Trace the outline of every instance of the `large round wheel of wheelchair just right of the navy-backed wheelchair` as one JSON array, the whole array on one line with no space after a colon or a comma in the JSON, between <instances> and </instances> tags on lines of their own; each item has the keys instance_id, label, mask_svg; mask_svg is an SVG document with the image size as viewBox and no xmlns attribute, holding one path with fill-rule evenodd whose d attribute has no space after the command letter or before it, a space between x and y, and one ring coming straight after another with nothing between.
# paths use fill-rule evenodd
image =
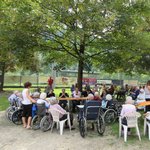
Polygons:
<instances>
[{"instance_id":1,"label":"large round wheel of wheelchair just right of the navy-backed wheelchair","mask_svg":"<svg viewBox=\"0 0 150 150\"><path fill-rule=\"evenodd\" d=\"M106 124L112 124L116 121L117 114L113 109L108 109L104 113L104 121Z\"/></svg>"}]
</instances>

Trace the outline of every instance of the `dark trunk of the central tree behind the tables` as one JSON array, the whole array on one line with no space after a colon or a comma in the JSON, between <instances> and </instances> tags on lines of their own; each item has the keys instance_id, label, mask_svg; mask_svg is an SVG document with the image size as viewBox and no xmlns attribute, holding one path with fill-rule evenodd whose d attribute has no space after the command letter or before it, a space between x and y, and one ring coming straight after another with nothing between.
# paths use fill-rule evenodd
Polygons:
<instances>
[{"instance_id":1,"label":"dark trunk of the central tree behind the tables","mask_svg":"<svg viewBox=\"0 0 150 150\"><path fill-rule=\"evenodd\" d=\"M83 60L79 60L78 64L78 88L82 91L82 78L83 78Z\"/></svg>"}]
</instances>

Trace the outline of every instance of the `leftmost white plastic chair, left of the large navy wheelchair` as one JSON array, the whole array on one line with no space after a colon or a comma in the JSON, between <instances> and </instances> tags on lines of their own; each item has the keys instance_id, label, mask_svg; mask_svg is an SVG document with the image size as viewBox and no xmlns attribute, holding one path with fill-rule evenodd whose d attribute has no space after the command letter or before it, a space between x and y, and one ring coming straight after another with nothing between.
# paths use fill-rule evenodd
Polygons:
<instances>
[{"instance_id":1,"label":"leftmost white plastic chair, left of the large navy wheelchair","mask_svg":"<svg viewBox=\"0 0 150 150\"><path fill-rule=\"evenodd\" d=\"M53 123L52 123L52 127L51 127L51 132L53 131L54 124L57 123L57 129L58 129L58 125L59 125L60 135L62 135L63 134L64 123L66 121L68 121L69 129L71 131L71 124L70 124L70 115L69 115L69 112L67 113L67 119L64 119L62 121L59 120L59 116L61 114L59 110L50 109L50 112L51 112L52 117L53 117Z\"/></svg>"}]
</instances>

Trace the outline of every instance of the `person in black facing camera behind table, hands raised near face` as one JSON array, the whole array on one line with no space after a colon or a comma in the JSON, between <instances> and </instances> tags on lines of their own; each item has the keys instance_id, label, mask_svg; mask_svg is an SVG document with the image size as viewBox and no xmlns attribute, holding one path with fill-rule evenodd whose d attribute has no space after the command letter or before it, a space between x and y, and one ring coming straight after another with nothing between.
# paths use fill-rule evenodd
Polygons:
<instances>
[{"instance_id":1,"label":"person in black facing camera behind table, hands raised near face","mask_svg":"<svg viewBox=\"0 0 150 150\"><path fill-rule=\"evenodd\" d=\"M65 89L63 88L62 89L62 93L59 94L59 97L60 98L66 98L66 97L69 97L68 93L65 92ZM59 101L59 105L63 108L63 109L67 109L67 103L68 101L67 100L60 100Z\"/></svg>"}]
</instances>

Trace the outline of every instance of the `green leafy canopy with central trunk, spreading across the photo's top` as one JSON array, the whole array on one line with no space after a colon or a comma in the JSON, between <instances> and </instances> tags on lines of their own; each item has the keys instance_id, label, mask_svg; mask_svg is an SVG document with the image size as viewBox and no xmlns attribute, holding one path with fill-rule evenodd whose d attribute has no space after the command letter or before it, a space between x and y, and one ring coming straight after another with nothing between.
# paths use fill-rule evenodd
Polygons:
<instances>
[{"instance_id":1,"label":"green leafy canopy with central trunk, spreading across the photo's top","mask_svg":"<svg viewBox=\"0 0 150 150\"><path fill-rule=\"evenodd\" d=\"M31 69L39 51L48 62L78 63L80 89L87 63L107 72L150 69L150 3L146 0L0 3L1 61L8 60L9 54L13 62Z\"/></svg>"}]
</instances>

